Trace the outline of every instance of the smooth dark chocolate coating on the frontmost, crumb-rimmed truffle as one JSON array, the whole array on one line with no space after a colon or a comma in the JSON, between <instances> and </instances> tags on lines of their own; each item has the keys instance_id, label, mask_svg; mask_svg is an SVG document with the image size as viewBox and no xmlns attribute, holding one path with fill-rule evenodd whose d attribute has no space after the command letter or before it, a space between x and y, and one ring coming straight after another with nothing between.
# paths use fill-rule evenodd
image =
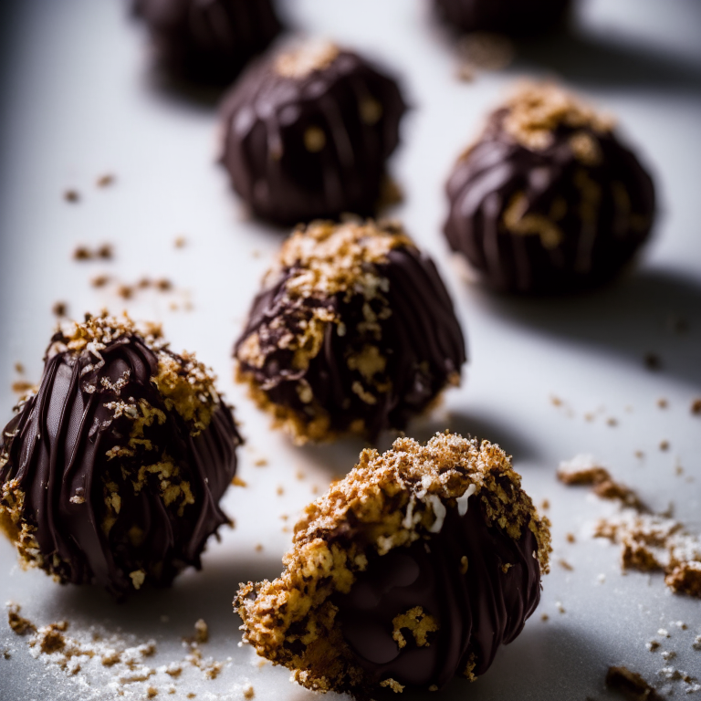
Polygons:
<instances>
[{"instance_id":1,"label":"smooth dark chocolate coating on the frontmost, crumb-rimmed truffle","mask_svg":"<svg viewBox=\"0 0 701 701\"><path fill-rule=\"evenodd\" d=\"M518 636L538 606L537 549L528 528L514 540L487 526L475 501L462 517L449 507L443 528L429 539L375 555L351 592L335 600L343 637L369 683L391 677L401 685L441 688L468 665L471 675L487 672L499 646ZM392 620L415 606L440 627L430 644L418 646L407 634L400 648Z\"/></svg>"}]
</instances>

